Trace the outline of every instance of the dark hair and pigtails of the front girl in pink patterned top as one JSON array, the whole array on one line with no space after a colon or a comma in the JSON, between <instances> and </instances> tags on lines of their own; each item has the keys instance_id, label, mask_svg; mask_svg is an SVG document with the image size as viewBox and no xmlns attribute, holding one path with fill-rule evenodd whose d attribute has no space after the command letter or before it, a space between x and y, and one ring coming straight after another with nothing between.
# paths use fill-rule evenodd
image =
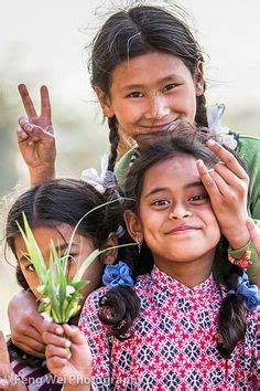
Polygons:
<instances>
[{"instance_id":1,"label":"dark hair and pigtails of the front girl in pink patterned top","mask_svg":"<svg viewBox=\"0 0 260 391\"><path fill-rule=\"evenodd\" d=\"M202 133L201 129L193 128L188 124L180 124L180 126L181 131L162 133L161 136L158 137L158 144L151 142L148 149L141 154L129 170L123 186L124 194L129 199L126 209L131 210L137 215L139 215L139 203L144 176L149 168L183 154L195 157L196 159L202 159L207 168L213 168L218 162L218 158L206 146L206 141L209 138L206 129L205 133ZM213 138L213 135L210 138ZM234 152L234 155L236 154ZM242 160L237 155L236 157L245 167ZM227 290L236 290L238 277L242 274L242 271L228 261L227 250L228 242L225 237L221 237L216 249L213 273L215 279L224 284ZM131 266L134 277L151 272L153 257L145 243L142 245L140 255L138 256L138 254L136 254L136 261L133 257ZM109 313L106 311L105 323L111 326L112 335L119 339L123 338L123 332L126 334L129 330L134 317L139 313L139 304L136 307L126 306L128 298L132 298L134 295L132 288L128 287L122 289L119 287L117 289L110 289L105 295L105 298L100 300L100 319L104 321L104 308L107 310L107 307L110 306L110 308L112 308L112 316L108 318L107 314ZM126 314L129 308L130 311ZM220 355L228 358L237 342L243 339L245 334L246 310L242 298L239 295L226 295L221 302L218 314L218 335L220 338L217 348Z\"/></svg>"}]
</instances>

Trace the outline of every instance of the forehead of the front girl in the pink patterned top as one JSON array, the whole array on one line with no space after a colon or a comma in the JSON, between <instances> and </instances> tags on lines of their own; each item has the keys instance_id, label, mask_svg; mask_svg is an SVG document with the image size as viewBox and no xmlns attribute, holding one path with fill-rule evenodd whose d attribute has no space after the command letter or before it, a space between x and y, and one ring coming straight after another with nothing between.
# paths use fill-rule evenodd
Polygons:
<instances>
[{"instance_id":1,"label":"forehead of the front girl in the pink patterned top","mask_svg":"<svg viewBox=\"0 0 260 391\"><path fill-rule=\"evenodd\" d=\"M143 178L142 193L149 192L152 188L180 189L199 180L196 158L180 154L148 169Z\"/></svg>"}]
</instances>

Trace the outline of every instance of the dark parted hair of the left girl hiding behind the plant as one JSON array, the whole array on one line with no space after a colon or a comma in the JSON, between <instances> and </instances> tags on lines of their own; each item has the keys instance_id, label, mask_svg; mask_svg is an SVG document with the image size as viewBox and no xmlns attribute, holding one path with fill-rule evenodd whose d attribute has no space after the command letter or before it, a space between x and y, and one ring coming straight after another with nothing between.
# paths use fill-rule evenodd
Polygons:
<instances>
[{"instance_id":1,"label":"dark parted hair of the left girl hiding behind the plant","mask_svg":"<svg viewBox=\"0 0 260 391\"><path fill-rule=\"evenodd\" d=\"M21 194L10 209L6 225L7 244L17 257L15 237L21 235L18 223L24 229L23 212L31 229L51 226L55 230L61 223L75 228L88 211L107 201L106 196L82 180L55 179L37 184ZM106 244L109 234L117 231L121 220L122 211L119 202L116 202L97 209L83 219L77 232L89 239L95 247L100 249ZM29 289L19 263L17 279L22 288ZM9 351L20 358L24 356L24 352L11 342L9 342ZM37 367L41 362L41 359L26 357L26 363L31 367Z\"/></svg>"}]
</instances>

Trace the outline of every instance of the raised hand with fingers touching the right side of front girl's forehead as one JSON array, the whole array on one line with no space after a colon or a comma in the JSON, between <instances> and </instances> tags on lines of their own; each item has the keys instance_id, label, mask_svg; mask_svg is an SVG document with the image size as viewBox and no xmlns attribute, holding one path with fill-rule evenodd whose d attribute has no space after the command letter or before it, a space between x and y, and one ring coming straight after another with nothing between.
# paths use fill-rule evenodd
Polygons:
<instances>
[{"instance_id":1,"label":"raised hand with fingers touching the right side of front girl's forehead","mask_svg":"<svg viewBox=\"0 0 260 391\"><path fill-rule=\"evenodd\" d=\"M198 160L197 169L221 233L231 247L238 250L250 240L246 225L249 177L231 152L214 140L207 145L220 161L214 170L207 170L204 162Z\"/></svg>"}]
</instances>

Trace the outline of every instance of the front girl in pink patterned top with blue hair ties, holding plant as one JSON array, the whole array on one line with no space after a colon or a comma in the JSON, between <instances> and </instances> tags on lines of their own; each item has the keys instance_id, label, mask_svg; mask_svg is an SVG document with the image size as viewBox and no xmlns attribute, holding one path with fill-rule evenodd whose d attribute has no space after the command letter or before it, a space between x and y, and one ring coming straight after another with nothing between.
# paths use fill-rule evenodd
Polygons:
<instances>
[{"instance_id":1,"label":"front girl in pink patterned top with blue hair ties, holding plant","mask_svg":"<svg viewBox=\"0 0 260 391\"><path fill-rule=\"evenodd\" d=\"M140 254L107 266L107 287L84 305L79 328L91 350L93 389L253 387L257 286L227 258L227 241L203 184L221 162L195 138L161 140L127 177L124 220ZM75 335L80 338L79 330ZM43 338L50 369L78 374L84 351L68 358L61 335Z\"/></svg>"}]
</instances>

